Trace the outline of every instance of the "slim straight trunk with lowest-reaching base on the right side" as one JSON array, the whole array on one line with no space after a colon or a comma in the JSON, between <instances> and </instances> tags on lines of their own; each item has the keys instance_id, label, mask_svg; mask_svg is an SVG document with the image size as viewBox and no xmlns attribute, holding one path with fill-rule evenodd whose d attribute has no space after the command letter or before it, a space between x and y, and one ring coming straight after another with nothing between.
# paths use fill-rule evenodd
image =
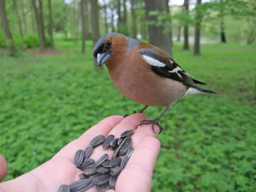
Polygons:
<instances>
[{"instance_id":1,"label":"slim straight trunk with lowest-reaching base on the right side","mask_svg":"<svg viewBox=\"0 0 256 192\"><path fill-rule=\"evenodd\" d=\"M196 1L196 6L200 5L202 3L202 0ZM201 25L201 19L202 14L200 13L200 10L196 10L195 15L195 44L194 44L194 55L200 55L200 25Z\"/></svg>"}]
</instances>

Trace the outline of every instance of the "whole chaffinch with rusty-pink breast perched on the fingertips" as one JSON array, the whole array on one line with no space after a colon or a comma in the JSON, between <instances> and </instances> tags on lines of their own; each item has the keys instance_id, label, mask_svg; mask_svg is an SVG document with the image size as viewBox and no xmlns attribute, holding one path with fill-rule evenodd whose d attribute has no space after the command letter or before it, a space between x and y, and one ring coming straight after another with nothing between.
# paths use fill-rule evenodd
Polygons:
<instances>
[{"instance_id":1,"label":"whole chaffinch with rusty-pink breast perched on the fingertips","mask_svg":"<svg viewBox=\"0 0 256 192\"><path fill-rule=\"evenodd\" d=\"M162 49L120 33L101 36L93 47L93 56L99 66L106 64L109 76L122 95L145 105L139 113L148 106L167 106L154 120L143 120L139 124L152 124L154 132L154 125L160 127L160 132L163 130L159 120L182 97L218 94L198 88L196 84L205 83L193 79Z\"/></svg>"}]
</instances>

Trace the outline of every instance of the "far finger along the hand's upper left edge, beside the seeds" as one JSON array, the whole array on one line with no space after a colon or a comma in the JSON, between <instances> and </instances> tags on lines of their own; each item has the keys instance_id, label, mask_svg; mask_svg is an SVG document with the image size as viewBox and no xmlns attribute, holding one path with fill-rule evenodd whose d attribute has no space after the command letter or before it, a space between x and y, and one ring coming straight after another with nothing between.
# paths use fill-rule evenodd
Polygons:
<instances>
[{"instance_id":1,"label":"far finger along the hand's upper left edge, beside the seeds","mask_svg":"<svg viewBox=\"0 0 256 192\"><path fill-rule=\"evenodd\" d=\"M98 124L94 125L82 136L77 138L77 140L68 143L68 145L62 148L60 152L56 154L56 156L52 157L52 159L67 158L69 161L73 162L77 150L85 150L85 148L89 146L90 141L92 141L92 139L99 134L107 136L109 131L111 131L115 125L120 123L122 119L122 116L109 116L108 118L101 120Z\"/></svg>"}]
</instances>

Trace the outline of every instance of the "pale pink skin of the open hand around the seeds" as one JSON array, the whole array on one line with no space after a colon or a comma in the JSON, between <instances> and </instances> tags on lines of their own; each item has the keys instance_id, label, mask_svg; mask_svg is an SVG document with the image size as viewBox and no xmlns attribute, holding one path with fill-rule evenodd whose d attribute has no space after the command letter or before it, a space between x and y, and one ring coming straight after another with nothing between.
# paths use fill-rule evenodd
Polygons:
<instances>
[{"instance_id":1,"label":"pale pink skin of the open hand around the seeds","mask_svg":"<svg viewBox=\"0 0 256 192\"><path fill-rule=\"evenodd\" d=\"M114 134L115 137L128 129L136 129L141 120L147 116L137 113L127 116L109 116L94 125L77 140L68 143L51 160L38 166L29 173L17 179L9 180L0 184L1 192L40 192L58 191L61 184L70 184L79 180L78 175L82 173L74 165L74 155L79 149L85 149L90 141L97 135ZM127 163L127 166L120 173L116 182L116 192L149 192L151 189L152 172L156 164L157 155L160 150L160 142L156 139L157 134L152 131L151 125L138 127L132 135L132 147L134 152ZM95 147L90 158L99 159L102 154L107 153L111 157L113 150L103 150L102 145ZM7 172L7 164L3 156L0 156L0 179L3 179ZM96 192L94 187L86 192ZM108 190L114 192L114 190Z\"/></svg>"}]
</instances>

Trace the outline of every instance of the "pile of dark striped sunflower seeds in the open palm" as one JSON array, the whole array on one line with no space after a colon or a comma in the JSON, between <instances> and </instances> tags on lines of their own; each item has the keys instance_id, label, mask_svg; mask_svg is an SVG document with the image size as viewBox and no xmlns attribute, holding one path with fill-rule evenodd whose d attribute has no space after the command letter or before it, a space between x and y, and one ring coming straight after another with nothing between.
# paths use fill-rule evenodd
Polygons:
<instances>
[{"instance_id":1,"label":"pile of dark striped sunflower seeds in the open palm","mask_svg":"<svg viewBox=\"0 0 256 192\"><path fill-rule=\"evenodd\" d=\"M134 150L131 147L133 132L133 130L127 130L120 135L120 138L115 138L113 134L106 138L99 135L93 138L86 150L77 150L74 164L83 171L79 175L81 180L77 180L69 186L61 185L59 192L83 192L93 185L98 192L104 192L108 189L115 190L118 175L124 170ZM102 143L102 148L110 147L114 150L111 159L109 159L108 154L104 154L97 161L88 158L92 154L93 147Z\"/></svg>"}]
</instances>

